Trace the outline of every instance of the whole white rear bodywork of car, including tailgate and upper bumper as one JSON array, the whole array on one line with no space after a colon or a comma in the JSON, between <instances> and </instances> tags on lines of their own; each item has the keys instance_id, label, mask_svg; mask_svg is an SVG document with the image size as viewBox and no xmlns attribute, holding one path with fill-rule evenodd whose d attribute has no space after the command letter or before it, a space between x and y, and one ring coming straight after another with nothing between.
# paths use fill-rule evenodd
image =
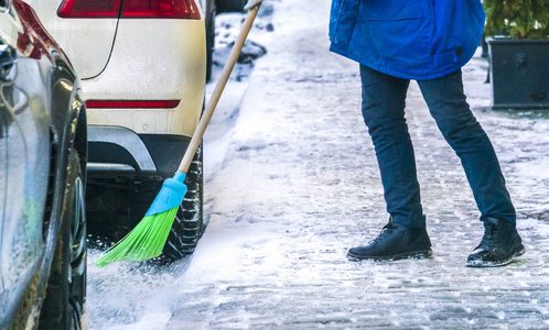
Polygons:
<instances>
[{"instance_id":1,"label":"whole white rear bodywork of car, including tailgate and upper bumper","mask_svg":"<svg viewBox=\"0 0 549 330\"><path fill-rule=\"evenodd\" d=\"M28 2L73 62L87 100L181 100L175 109L88 109L89 124L192 136L206 79L202 11L201 20L62 19L61 0Z\"/></svg>"}]
</instances>

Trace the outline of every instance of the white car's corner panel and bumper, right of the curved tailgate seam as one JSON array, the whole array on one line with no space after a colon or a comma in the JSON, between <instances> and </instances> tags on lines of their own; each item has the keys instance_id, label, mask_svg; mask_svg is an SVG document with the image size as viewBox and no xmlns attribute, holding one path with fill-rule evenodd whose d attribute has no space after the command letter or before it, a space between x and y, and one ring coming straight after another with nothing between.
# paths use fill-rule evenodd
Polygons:
<instances>
[{"instance_id":1,"label":"white car's corner panel and bumper, right of the curved tailgate seam","mask_svg":"<svg viewBox=\"0 0 549 330\"><path fill-rule=\"evenodd\" d=\"M191 136L204 101L205 54L202 20L120 20L105 72L82 81L85 97L181 103L169 110L88 109L88 122L120 125L137 133Z\"/></svg>"}]
</instances>

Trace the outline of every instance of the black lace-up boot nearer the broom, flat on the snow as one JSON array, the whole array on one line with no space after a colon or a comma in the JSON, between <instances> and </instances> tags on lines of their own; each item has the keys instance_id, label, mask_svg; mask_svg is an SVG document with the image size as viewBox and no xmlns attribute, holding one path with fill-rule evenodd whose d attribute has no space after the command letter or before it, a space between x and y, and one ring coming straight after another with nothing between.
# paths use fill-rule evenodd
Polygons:
<instances>
[{"instance_id":1,"label":"black lace-up boot nearer the broom, flat on the snow","mask_svg":"<svg viewBox=\"0 0 549 330\"><path fill-rule=\"evenodd\" d=\"M353 248L347 253L347 257L353 261L399 260L431 255L431 240L424 228L398 224L392 222L392 218L368 245Z\"/></svg>"}]
</instances>

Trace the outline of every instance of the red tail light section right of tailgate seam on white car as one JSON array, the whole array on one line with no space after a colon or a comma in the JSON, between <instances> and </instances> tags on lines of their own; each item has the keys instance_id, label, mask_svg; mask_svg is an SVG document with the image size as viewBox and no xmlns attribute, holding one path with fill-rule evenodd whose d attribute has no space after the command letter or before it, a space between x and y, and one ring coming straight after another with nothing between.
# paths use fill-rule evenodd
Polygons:
<instances>
[{"instance_id":1,"label":"red tail light section right of tailgate seam on white car","mask_svg":"<svg viewBox=\"0 0 549 330\"><path fill-rule=\"evenodd\" d=\"M201 13L193 0L125 0L122 18L200 20Z\"/></svg>"}]
</instances>

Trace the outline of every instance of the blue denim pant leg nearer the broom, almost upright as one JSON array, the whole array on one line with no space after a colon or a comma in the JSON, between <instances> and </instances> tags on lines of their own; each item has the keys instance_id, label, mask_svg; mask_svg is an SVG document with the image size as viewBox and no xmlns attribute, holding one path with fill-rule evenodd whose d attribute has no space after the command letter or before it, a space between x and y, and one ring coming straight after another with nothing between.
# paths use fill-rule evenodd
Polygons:
<instances>
[{"instance_id":1,"label":"blue denim pant leg nearer the broom, almost upright","mask_svg":"<svg viewBox=\"0 0 549 330\"><path fill-rule=\"evenodd\" d=\"M376 150L387 211L395 222L426 227L416 158L405 119L410 80L360 65L363 117Z\"/></svg>"}]
</instances>

